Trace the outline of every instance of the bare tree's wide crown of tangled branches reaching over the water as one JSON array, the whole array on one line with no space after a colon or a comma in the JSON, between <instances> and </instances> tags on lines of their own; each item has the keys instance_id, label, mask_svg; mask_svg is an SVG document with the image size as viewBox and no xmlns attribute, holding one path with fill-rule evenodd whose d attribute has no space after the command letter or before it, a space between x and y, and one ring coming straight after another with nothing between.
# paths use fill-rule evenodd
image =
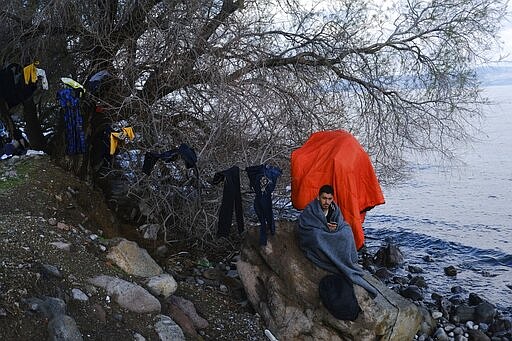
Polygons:
<instances>
[{"instance_id":1,"label":"bare tree's wide crown of tangled branches reaching over the water","mask_svg":"<svg viewBox=\"0 0 512 341\"><path fill-rule=\"evenodd\" d=\"M485 103L474 67L498 44L506 8L505 0L7 3L4 61L39 59L53 85L108 70L115 81L89 101L110 122L133 125L130 148L197 150L202 182L175 165L146 176L132 163L130 187L146 217L196 235L211 233L218 208L219 189L205 179L231 165L287 170L290 152L317 130L352 132L383 181L401 178L405 152L451 156Z\"/></svg>"}]
</instances>

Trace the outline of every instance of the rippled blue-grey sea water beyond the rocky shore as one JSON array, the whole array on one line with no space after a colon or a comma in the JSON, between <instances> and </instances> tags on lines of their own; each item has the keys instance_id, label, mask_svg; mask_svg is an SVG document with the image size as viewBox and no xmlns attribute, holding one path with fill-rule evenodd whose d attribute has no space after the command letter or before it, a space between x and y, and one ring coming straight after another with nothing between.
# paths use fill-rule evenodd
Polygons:
<instances>
[{"instance_id":1,"label":"rippled blue-grey sea water beyond the rocky shore","mask_svg":"<svg viewBox=\"0 0 512 341\"><path fill-rule=\"evenodd\" d=\"M364 226L370 250L390 238L425 270L429 292L459 285L512 312L512 86L485 94L495 104L477 142L458 147L460 162L417 160L410 180L383 188L386 204ZM449 265L456 277L444 274Z\"/></svg>"}]
</instances>

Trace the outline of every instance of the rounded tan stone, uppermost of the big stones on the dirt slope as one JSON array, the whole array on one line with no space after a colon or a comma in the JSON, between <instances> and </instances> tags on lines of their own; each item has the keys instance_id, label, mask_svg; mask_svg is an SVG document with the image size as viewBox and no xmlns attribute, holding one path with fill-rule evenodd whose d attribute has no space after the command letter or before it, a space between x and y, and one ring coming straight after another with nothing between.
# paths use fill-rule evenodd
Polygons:
<instances>
[{"instance_id":1,"label":"rounded tan stone, uppermost of the big stones on the dirt slope","mask_svg":"<svg viewBox=\"0 0 512 341\"><path fill-rule=\"evenodd\" d=\"M130 275L151 277L163 272L146 250L140 248L137 243L126 239L121 239L119 244L111 248L107 259L112 260Z\"/></svg>"}]
</instances>

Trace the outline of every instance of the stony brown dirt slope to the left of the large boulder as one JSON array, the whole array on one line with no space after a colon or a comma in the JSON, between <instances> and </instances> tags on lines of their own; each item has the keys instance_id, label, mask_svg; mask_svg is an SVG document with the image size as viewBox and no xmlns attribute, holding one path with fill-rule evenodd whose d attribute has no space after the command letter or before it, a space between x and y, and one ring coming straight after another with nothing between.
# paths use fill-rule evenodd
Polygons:
<instances>
[{"instance_id":1,"label":"stony brown dirt slope to the left of the large boulder","mask_svg":"<svg viewBox=\"0 0 512 341\"><path fill-rule=\"evenodd\" d=\"M159 340L160 314L180 319L161 295L160 314L136 313L91 285L106 275L144 287L144 278L106 258L118 241L110 237L120 233L112 221L101 194L47 156L0 161L0 340L62 340L62 330L84 340ZM197 333L182 328L186 339L266 339L239 281L228 276L236 253L156 246L148 249L178 281L172 296L208 321Z\"/></svg>"}]
</instances>

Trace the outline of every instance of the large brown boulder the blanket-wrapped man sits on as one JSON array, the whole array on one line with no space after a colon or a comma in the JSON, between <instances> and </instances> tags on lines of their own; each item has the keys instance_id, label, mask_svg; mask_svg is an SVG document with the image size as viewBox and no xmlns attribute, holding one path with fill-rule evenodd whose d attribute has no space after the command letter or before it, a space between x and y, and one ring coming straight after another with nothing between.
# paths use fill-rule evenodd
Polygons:
<instances>
[{"instance_id":1,"label":"large brown boulder the blanket-wrapped man sits on","mask_svg":"<svg viewBox=\"0 0 512 341\"><path fill-rule=\"evenodd\" d=\"M240 279L253 307L279 340L412 340L421 322L418 307L370 274L379 291L372 299L355 285L362 313L355 321L333 317L321 304L320 279L327 274L302 253L294 222L279 222L266 247L258 229L249 230L237 262Z\"/></svg>"}]
</instances>

